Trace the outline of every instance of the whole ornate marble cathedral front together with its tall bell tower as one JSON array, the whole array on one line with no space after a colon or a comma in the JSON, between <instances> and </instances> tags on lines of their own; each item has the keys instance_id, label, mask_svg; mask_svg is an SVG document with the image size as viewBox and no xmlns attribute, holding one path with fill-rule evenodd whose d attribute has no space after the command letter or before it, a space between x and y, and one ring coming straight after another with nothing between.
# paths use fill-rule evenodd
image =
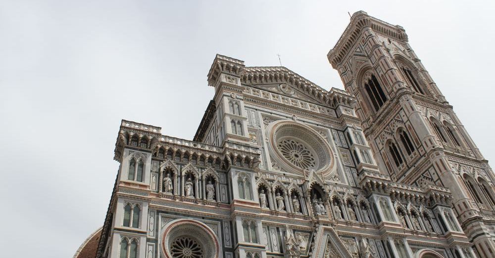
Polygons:
<instances>
[{"instance_id":1,"label":"whole ornate marble cathedral front together with its tall bell tower","mask_svg":"<svg viewBox=\"0 0 495 258\"><path fill-rule=\"evenodd\" d=\"M192 141L122 120L96 257L495 257L494 173L404 29L356 12L328 60L345 91L217 55Z\"/></svg>"}]
</instances>

